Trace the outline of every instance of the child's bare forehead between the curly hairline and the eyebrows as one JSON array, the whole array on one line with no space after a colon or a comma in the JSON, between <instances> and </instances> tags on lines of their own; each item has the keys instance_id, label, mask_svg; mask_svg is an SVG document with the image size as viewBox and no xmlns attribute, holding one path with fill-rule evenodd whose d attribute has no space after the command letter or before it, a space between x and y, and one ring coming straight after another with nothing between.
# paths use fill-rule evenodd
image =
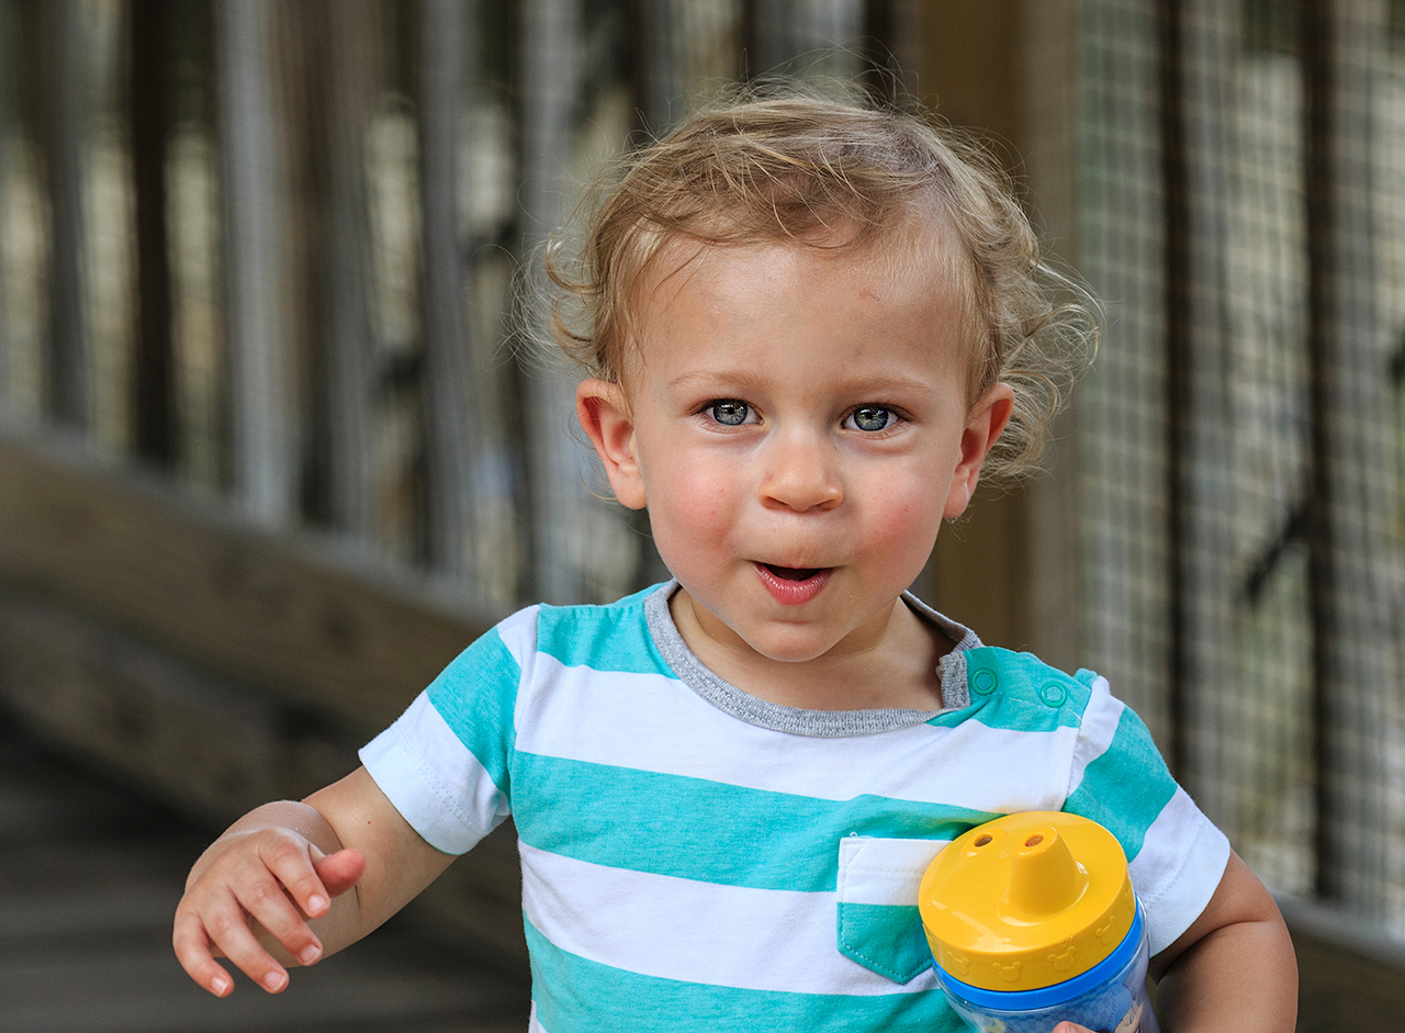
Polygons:
<instances>
[{"instance_id":1,"label":"child's bare forehead between the curly hairline and the eyebrows","mask_svg":"<svg viewBox=\"0 0 1405 1033\"><path fill-rule=\"evenodd\" d=\"M899 370L964 381L969 370L965 291L941 239L854 247L680 238L658 257L639 284L635 344L620 370L629 396L724 371L769 377L804 356L812 374L849 384Z\"/></svg>"}]
</instances>

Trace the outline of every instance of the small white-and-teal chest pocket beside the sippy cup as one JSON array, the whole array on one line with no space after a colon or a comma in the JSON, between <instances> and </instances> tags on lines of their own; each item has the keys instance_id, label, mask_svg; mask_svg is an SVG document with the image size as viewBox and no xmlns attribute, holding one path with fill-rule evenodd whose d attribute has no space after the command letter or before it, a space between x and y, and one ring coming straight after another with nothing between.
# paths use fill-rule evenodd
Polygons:
<instances>
[{"instance_id":1,"label":"small white-and-teal chest pocket beside the sippy cup","mask_svg":"<svg viewBox=\"0 0 1405 1033\"><path fill-rule=\"evenodd\" d=\"M946 839L839 840L839 951L864 968L906 984L932 967L917 914L917 885Z\"/></svg>"}]
</instances>

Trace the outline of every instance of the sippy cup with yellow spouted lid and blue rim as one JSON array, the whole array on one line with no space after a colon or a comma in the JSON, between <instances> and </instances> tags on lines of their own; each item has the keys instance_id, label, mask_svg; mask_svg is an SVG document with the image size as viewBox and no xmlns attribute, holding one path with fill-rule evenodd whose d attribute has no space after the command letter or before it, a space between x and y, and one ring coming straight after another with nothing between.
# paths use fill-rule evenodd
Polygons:
<instances>
[{"instance_id":1,"label":"sippy cup with yellow spouted lid and blue rim","mask_svg":"<svg viewBox=\"0 0 1405 1033\"><path fill-rule=\"evenodd\" d=\"M1159 1033L1146 1001L1148 940L1127 857L1073 814L978 825L922 877L936 975L978 1033Z\"/></svg>"}]
</instances>

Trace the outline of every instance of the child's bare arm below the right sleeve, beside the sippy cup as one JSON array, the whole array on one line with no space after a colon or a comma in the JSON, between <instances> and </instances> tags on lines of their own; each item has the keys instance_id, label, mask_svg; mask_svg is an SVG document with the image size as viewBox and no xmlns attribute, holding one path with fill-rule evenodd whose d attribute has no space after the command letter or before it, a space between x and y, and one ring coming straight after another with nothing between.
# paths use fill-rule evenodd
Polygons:
<instances>
[{"instance_id":1,"label":"child's bare arm below the right sleeve, beside the sippy cup","mask_svg":"<svg viewBox=\"0 0 1405 1033\"><path fill-rule=\"evenodd\" d=\"M1151 960L1151 977L1166 1033L1293 1033L1297 1025L1293 940L1279 905L1236 853L1200 918ZM1055 1033L1080 1029L1061 1023Z\"/></svg>"}]
</instances>

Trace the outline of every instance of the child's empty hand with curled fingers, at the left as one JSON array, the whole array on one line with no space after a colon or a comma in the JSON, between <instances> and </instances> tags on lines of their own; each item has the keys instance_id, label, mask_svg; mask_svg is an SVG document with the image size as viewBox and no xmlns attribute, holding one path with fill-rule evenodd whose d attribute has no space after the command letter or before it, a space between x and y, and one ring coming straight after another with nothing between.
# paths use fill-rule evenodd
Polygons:
<instances>
[{"instance_id":1,"label":"child's empty hand with curled fingers, at the left","mask_svg":"<svg viewBox=\"0 0 1405 1033\"><path fill-rule=\"evenodd\" d=\"M260 943L261 930L289 961L318 961L322 942L306 918L326 915L332 899L365 871L360 850L323 855L288 828L230 829L202 862L176 908L171 939L181 967L215 996L235 988L216 957L228 957L270 994L288 985L287 970Z\"/></svg>"}]
</instances>

